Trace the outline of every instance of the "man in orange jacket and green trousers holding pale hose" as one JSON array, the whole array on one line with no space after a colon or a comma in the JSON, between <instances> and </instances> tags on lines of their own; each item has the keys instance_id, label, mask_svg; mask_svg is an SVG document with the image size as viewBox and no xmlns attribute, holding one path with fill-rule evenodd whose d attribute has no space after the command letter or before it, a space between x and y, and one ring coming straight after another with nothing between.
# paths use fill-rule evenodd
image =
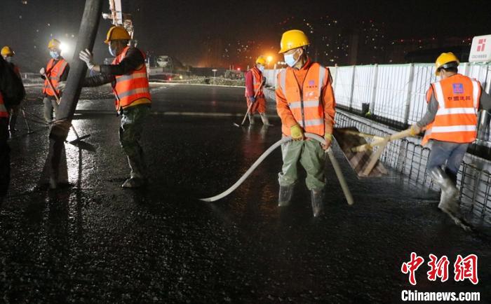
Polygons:
<instances>
[{"instance_id":1,"label":"man in orange jacket and green trousers holding pale hose","mask_svg":"<svg viewBox=\"0 0 491 304\"><path fill-rule=\"evenodd\" d=\"M325 151L332 142L335 98L329 69L311 61L307 46L309 39L302 31L293 29L281 37L279 53L285 57L288 67L278 74L276 109L283 136L291 136L293 141L281 147L283 168L278 174L278 206L290 204L300 163L307 171L312 211L314 216L319 216L323 213ZM304 132L324 137L326 144L305 140Z\"/></svg>"}]
</instances>

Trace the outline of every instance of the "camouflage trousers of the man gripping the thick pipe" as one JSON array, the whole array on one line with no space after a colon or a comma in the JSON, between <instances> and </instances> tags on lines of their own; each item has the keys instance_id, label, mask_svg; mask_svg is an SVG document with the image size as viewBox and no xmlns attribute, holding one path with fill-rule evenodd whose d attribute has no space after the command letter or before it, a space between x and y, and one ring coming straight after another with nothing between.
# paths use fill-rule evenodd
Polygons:
<instances>
[{"instance_id":1,"label":"camouflage trousers of the man gripping the thick pipe","mask_svg":"<svg viewBox=\"0 0 491 304\"><path fill-rule=\"evenodd\" d=\"M143 149L140 138L143 132L143 123L150 113L147 104L130 106L121 113L121 126L119 127L119 143L128 156L131 178L147 178L147 166L145 165Z\"/></svg>"}]
</instances>

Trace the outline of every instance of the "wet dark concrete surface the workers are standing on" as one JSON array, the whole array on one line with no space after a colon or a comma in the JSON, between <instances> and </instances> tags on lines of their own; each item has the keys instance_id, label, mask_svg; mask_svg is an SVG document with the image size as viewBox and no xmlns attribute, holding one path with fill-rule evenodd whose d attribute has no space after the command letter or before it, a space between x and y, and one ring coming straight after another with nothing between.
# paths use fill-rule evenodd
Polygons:
<instances>
[{"instance_id":1,"label":"wet dark concrete surface the workers are standing on","mask_svg":"<svg viewBox=\"0 0 491 304\"><path fill-rule=\"evenodd\" d=\"M234 127L245 111L242 88L158 85L152 93L145 189L120 188L128 166L112 101L97 99L107 98L103 91L84 92L79 104L74 126L97 150L66 145L72 187L34 188L46 128L11 140L13 180L0 207L0 302L394 303L404 289L480 291L481 302L490 301L489 228L465 233L438 212L438 193L396 174L356 179L339 149L355 205L347 205L328 165L322 219L311 218L303 180L292 206L276 207L279 150L229 197L197 200L234 184L280 138L279 121ZM39 100L26 106L41 113ZM401 272L412 251L425 258L417 286ZM448 256L447 282L426 278L429 254ZM477 285L452 279L457 254L478 255Z\"/></svg>"}]
</instances>

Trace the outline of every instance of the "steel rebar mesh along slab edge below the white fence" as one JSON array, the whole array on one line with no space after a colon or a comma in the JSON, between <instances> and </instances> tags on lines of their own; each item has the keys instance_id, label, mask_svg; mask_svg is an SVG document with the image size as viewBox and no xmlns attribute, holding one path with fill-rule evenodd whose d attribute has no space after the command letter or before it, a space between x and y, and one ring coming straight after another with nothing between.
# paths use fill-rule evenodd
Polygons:
<instances>
[{"instance_id":1,"label":"steel rebar mesh along slab edge below the white fence","mask_svg":"<svg viewBox=\"0 0 491 304\"><path fill-rule=\"evenodd\" d=\"M389 134L372 124L353 119L342 111L336 113L336 127L357 127L361 132L381 137ZM438 190L426 170L430 152L431 149L426 146L407 139L399 139L387 144L380 160L384 165L403 174L412 183ZM487 221L491 222L491 173L476 165L463 162L457 176L457 185L460 189L459 202L462 207L480 216L481 219L487 218Z\"/></svg>"}]
</instances>

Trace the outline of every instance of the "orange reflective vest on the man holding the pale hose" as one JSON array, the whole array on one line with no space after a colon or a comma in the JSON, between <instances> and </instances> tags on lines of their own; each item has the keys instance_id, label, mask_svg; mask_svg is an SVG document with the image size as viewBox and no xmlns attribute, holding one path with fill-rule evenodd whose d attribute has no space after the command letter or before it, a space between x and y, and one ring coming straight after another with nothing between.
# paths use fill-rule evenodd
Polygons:
<instances>
[{"instance_id":1,"label":"orange reflective vest on the man holding the pale hose","mask_svg":"<svg viewBox=\"0 0 491 304\"><path fill-rule=\"evenodd\" d=\"M303 83L298 83L292 68L283 69L278 74L278 85L285 96L290 111L297 123L310 132L324 136L324 105L322 90L327 85L329 70L316 62L307 71ZM282 125L283 134L290 136L290 127Z\"/></svg>"}]
</instances>

